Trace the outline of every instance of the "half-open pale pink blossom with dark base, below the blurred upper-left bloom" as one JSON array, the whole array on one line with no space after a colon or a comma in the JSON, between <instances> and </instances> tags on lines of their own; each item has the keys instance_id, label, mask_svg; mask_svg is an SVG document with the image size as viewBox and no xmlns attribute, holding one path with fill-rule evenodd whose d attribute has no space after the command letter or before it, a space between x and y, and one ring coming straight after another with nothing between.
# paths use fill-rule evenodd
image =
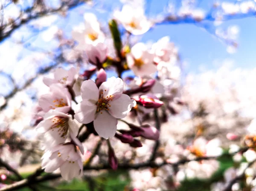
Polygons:
<instances>
[{"instance_id":1,"label":"half-open pale pink blossom with dark base, below the blurred upper-left bloom","mask_svg":"<svg viewBox=\"0 0 256 191\"><path fill-rule=\"evenodd\" d=\"M107 59L108 47L104 43L98 43L96 45L87 45L86 54L88 60L98 66Z\"/></svg>"}]
</instances>

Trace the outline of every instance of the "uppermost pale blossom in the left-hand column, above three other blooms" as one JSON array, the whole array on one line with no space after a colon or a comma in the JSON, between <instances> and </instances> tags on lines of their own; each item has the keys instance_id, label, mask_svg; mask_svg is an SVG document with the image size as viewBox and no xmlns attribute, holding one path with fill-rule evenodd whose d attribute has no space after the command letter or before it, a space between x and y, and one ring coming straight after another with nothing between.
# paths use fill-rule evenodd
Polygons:
<instances>
[{"instance_id":1,"label":"uppermost pale blossom in the left-hand column, above three other blooms","mask_svg":"<svg viewBox=\"0 0 256 191\"><path fill-rule=\"evenodd\" d=\"M77 71L76 68L70 68L68 71L63 68L57 68L54 73L54 79L44 77L43 82L45 85L50 86L54 83L73 86L75 82Z\"/></svg>"}]
</instances>

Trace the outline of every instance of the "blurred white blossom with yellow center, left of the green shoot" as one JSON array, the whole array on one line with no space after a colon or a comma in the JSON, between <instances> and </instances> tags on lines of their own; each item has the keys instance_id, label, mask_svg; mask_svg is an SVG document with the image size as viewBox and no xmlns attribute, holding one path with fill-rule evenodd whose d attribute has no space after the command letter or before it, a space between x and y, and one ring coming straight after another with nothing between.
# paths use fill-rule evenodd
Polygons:
<instances>
[{"instance_id":1,"label":"blurred white blossom with yellow center, left of the green shoot","mask_svg":"<svg viewBox=\"0 0 256 191\"><path fill-rule=\"evenodd\" d=\"M97 17L93 13L84 14L84 23L76 26L72 31L73 38L79 42L77 49L84 51L87 44L96 45L105 40L105 35L100 29Z\"/></svg>"}]
</instances>

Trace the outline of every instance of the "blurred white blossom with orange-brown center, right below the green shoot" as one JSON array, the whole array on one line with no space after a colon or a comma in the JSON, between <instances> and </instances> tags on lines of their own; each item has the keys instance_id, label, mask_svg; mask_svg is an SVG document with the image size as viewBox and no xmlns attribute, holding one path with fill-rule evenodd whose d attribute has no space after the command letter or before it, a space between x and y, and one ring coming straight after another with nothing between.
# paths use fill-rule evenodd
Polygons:
<instances>
[{"instance_id":1,"label":"blurred white blossom with orange-brown center, right below the green shoot","mask_svg":"<svg viewBox=\"0 0 256 191\"><path fill-rule=\"evenodd\" d=\"M154 65L154 54L151 54L144 43L137 43L131 48L131 53L126 56L129 68L137 76L153 74L157 71Z\"/></svg>"}]
</instances>

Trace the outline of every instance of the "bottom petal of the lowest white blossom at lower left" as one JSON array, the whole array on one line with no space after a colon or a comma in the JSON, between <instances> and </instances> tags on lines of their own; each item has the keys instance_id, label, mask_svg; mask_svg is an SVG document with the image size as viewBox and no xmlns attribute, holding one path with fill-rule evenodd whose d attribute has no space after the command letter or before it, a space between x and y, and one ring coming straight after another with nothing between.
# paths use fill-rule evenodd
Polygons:
<instances>
[{"instance_id":1,"label":"bottom petal of the lowest white blossom at lower left","mask_svg":"<svg viewBox=\"0 0 256 191\"><path fill-rule=\"evenodd\" d=\"M64 180L72 180L75 177L79 177L80 175L80 167L78 162L75 161L75 163L66 161L61 165L61 176L64 178Z\"/></svg>"}]
</instances>

